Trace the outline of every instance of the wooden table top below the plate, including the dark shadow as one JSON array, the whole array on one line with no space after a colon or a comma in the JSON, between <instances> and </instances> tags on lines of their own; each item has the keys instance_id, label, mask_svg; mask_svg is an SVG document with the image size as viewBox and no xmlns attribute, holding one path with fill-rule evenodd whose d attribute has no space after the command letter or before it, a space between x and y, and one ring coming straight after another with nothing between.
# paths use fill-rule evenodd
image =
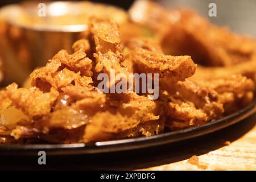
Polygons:
<instances>
[{"instance_id":1,"label":"wooden table top below the plate, including the dark shadow","mask_svg":"<svg viewBox=\"0 0 256 182\"><path fill-rule=\"evenodd\" d=\"M53 156L47 157L46 166L39 166L37 160L38 156L1 158L0 169L255 170L256 114L216 133L167 146L108 155Z\"/></svg>"}]
</instances>

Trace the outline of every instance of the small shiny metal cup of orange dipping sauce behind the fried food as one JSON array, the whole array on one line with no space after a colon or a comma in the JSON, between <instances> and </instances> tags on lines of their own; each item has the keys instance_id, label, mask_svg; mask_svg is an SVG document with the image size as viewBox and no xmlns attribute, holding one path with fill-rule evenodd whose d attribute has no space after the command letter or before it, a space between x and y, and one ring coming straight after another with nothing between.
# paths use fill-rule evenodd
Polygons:
<instances>
[{"instance_id":1,"label":"small shiny metal cup of orange dipping sauce behind the fried food","mask_svg":"<svg viewBox=\"0 0 256 182\"><path fill-rule=\"evenodd\" d=\"M7 22L9 34L1 38L1 57L5 65L5 82L22 84L32 69L43 66L61 49L72 53L72 44L80 38L80 33L87 30L86 15L94 16L101 11L101 4L89 2L48 2L46 16L39 16L40 2L24 2L20 5L8 5L0 9L0 18ZM93 6L93 7L92 7ZM109 11L114 9L105 5ZM91 8L92 7L92 8ZM90 11L96 9L97 11ZM125 14L115 8L116 13ZM114 16L108 11L105 14ZM125 14L126 15L126 14ZM123 16L125 16L123 15ZM34 22L29 22L32 19ZM18 36L13 38L11 36ZM17 51L17 44L22 47Z\"/></svg>"}]
</instances>

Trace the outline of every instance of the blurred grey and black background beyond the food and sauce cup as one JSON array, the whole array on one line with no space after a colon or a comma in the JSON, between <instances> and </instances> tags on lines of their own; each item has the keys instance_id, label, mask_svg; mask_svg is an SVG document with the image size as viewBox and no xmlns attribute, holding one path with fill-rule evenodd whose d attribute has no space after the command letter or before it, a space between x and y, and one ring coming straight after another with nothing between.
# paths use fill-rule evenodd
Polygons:
<instances>
[{"instance_id":1,"label":"blurred grey and black background beyond the food and sauce cup","mask_svg":"<svg viewBox=\"0 0 256 182\"><path fill-rule=\"evenodd\" d=\"M199 11L200 14L221 26L228 26L233 31L241 34L253 35L256 38L256 1L255 0L155 0L170 8L185 6ZM0 7L20 0L1 0ZM43 1L42 2L46 2ZM93 2L108 3L129 9L133 0L93 0ZM217 17L208 16L208 5L214 2L217 5Z\"/></svg>"}]
</instances>

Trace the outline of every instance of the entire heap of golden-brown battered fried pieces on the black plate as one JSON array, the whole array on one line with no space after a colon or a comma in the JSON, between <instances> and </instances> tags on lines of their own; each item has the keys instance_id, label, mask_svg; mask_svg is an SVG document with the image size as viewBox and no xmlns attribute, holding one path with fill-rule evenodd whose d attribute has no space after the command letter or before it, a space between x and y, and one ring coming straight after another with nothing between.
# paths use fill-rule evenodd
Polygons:
<instances>
[{"instance_id":1,"label":"entire heap of golden-brown battered fried pieces on the black plate","mask_svg":"<svg viewBox=\"0 0 256 182\"><path fill-rule=\"evenodd\" d=\"M149 137L164 129L203 125L253 101L256 61L250 57L254 42L214 27L187 10L167 11L151 2L143 8L147 17L142 16L141 23L163 34L164 39L160 35L159 39L122 39L124 34L120 35L113 20L92 18L83 39L73 44L74 53L59 51L46 66L31 73L31 84L26 88L14 83L0 91L0 143L33 143L38 139L88 143ZM154 10L154 17L148 15L149 10ZM201 35L195 33L196 28ZM187 42L188 35L193 41ZM232 46L221 38L224 35ZM174 42L177 47L169 45ZM186 55L187 43L192 58L199 62L229 65L232 60L239 64L197 68L191 56L163 53ZM202 50L203 56L198 54ZM147 93L99 92L97 76L110 76L112 69L124 75L159 73L159 98L150 100ZM114 79L116 84L119 80Z\"/></svg>"}]
</instances>

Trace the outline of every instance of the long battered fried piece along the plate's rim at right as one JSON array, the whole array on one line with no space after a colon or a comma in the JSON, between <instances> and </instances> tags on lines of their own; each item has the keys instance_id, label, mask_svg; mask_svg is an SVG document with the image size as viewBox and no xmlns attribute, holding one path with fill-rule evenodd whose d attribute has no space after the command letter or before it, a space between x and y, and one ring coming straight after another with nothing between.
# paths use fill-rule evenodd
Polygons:
<instances>
[{"instance_id":1,"label":"long battered fried piece along the plate's rim at right","mask_svg":"<svg viewBox=\"0 0 256 182\"><path fill-rule=\"evenodd\" d=\"M254 90L254 82L241 75L178 82L169 90L166 126L174 130L221 118L250 104Z\"/></svg>"}]
</instances>

